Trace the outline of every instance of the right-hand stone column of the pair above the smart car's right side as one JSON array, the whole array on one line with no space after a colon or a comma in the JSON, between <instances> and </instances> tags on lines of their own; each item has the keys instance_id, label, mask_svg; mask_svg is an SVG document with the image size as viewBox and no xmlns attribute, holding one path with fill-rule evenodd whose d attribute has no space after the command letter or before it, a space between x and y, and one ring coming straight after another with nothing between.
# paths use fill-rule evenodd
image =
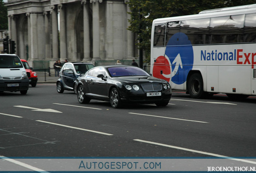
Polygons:
<instances>
[{"instance_id":1,"label":"right-hand stone column of the pair above the smart car's right side","mask_svg":"<svg viewBox=\"0 0 256 173\"><path fill-rule=\"evenodd\" d=\"M93 61L100 60L99 57L99 2L102 0L90 0L93 6Z\"/></svg>"}]
</instances>

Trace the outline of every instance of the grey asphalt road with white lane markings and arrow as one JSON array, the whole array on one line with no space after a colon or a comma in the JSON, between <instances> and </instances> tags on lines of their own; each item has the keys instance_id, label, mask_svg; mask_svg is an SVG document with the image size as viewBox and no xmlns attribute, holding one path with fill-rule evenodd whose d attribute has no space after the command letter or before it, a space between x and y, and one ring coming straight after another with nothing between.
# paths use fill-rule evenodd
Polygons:
<instances>
[{"instance_id":1,"label":"grey asphalt road with white lane markings and arrow","mask_svg":"<svg viewBox=\"0 0 256 173\"><path fill-rule=\"evenodd\" d=\"M37 84L27 95L0 93L5 157L256 157L256 97L191 99L167 107L79 104L72 91Z\"/></svg>"}]
</instances>

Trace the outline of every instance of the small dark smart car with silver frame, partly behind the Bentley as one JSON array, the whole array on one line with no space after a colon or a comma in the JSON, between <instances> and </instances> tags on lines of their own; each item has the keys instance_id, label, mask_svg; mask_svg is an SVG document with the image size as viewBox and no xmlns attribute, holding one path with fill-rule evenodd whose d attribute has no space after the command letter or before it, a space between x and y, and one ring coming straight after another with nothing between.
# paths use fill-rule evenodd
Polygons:
<instances>
[{"instance_id":1,"label":"small dark smart car with silver frame, partly behind the Bentley","mask_svg":"<svg viewBox=\"0 0 256 173\"><path fill-rule=\"evenodd\" d=\"M59 74L59 79L56 82L58 93L63 93L64 90L74 91L76 78L83 76L87 70L93 68L94 65L88 62L66 62Z\"/></svg>"}]
</instances>

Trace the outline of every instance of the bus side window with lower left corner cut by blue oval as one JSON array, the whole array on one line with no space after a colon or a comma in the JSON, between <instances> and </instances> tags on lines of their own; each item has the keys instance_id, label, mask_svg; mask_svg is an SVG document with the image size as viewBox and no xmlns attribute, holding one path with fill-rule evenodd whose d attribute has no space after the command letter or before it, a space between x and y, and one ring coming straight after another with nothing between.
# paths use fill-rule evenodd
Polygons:
<instances>
[{"instance_id":1,"label":"bus side window with lower left corner cut by blue oval","mask_svg":"<svg viewBox=\"0 0 256 173\"><path fill-rule=\"evenodd\" d=\"M210 18L182 20L180 32L188 36L192 44L208 44Z\"/></svg>"}]
</instances>

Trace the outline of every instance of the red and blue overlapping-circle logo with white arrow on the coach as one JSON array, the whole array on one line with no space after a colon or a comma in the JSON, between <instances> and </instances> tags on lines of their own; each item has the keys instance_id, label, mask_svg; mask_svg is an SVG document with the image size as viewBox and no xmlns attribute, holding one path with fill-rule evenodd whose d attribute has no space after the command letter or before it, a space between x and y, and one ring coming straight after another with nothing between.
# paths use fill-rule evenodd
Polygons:
<instances>
[{"instance_id":1,"label":"red and blue overlapping-circle logo with white arrow on the coach","mask_svg":"<svg viewBox=\"0 0 256 173\"><path fill-rule=\"evenodd\" d=\"M193 63L194 52L192 44L186 34L178 32L171 36L168 41L165 56L157 57L153 66L153 76L168 82L172 81L175 84L183 84L186 81L188 72L193 68Z\"/></svg>"}]
</instances>

